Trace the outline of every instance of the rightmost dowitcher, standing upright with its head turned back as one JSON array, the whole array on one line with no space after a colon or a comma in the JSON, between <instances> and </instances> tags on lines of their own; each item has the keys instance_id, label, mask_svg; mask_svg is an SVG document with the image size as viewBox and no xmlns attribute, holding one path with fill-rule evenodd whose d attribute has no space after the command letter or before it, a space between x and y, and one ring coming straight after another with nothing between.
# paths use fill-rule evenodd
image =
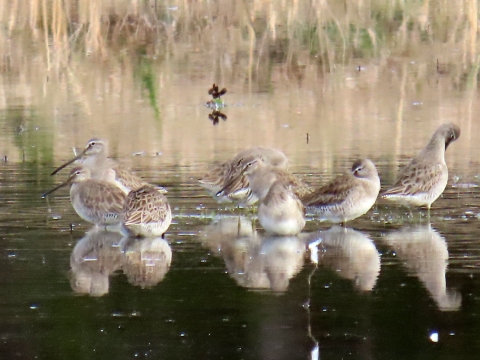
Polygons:
<instances>
[{"instance_id":1,"label":"rightmost dowitcher, standing upright with its head turned back","mask_svg":"<svg viewBox=\"0 0 480 360\"><path fill-rule=\"evenodd\" d=\"M382 194L382 198L406 206L427 206L430 210L447 186L445 150L459 136L457 125L441 125L427 146L400 171L397 181Z\"/></svg>"}]
</instances>

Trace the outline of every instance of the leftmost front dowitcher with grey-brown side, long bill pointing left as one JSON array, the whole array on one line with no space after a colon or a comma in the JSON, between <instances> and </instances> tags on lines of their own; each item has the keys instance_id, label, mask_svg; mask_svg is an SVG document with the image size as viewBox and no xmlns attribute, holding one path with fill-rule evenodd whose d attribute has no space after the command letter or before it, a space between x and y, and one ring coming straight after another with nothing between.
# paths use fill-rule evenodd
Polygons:
<instances>
[{"instance_id":1,"label":"leftmost front dowitcher with grey-brown side, long bill pointing left","mask_svg":"<svg viewBox=\"0 0 480 360\"><path fill-rule=\"evenodd\" d=\"M83 220L95 225L112 225L122 221L125 194L111 182L92 179L90 170L76 166L67 181L47 191L45 197L63 186L70 187L70 201Z\"/></svg>"}]
</instances>

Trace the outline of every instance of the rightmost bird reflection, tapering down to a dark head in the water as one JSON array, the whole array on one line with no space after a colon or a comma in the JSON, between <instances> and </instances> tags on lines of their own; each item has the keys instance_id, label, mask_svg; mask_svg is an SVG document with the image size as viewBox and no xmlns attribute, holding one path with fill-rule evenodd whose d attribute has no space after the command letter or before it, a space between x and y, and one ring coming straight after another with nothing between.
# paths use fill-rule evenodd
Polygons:
<instances>
[{"instance_id":1,"label":"rightmost bird reflection, tapering down to a dark head in the water","mask_svg":"<svg viewBox=\"0 0 480 360\"><path fill-rule=\"evenodd\" d=\"M436 230L430 225L406 227L389 233L383 239L409 272L422 281L440 310L460 309L461 294L456 290L447 290L447 243Z\"/></svg>"}]
</instances>

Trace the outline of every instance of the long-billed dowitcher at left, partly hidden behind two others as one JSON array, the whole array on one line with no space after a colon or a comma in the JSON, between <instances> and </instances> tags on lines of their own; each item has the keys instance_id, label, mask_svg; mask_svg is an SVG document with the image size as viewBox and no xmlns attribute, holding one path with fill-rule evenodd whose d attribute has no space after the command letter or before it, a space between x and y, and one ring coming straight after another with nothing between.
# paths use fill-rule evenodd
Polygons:
<instances>
[{"instance_id":1,"label":"long-billed dowitcher at left, partly hidden behind two others","mask_svg":"<svg viewBox=\"0 0 480 360\"><path fill-rule=\"evenodd\" d=\"M103 180L105 170L113 169L115 171L116 185L125 194L128 194L130 190L136 190L147 184L140 177L122 168L116 161L110 159L108 157L108 142L97 138L91 139L81 153L56 168L51 175L55 175L77 160L80 160L83 166L90 170L92 179Z\"/></svg>"}]
</instances>

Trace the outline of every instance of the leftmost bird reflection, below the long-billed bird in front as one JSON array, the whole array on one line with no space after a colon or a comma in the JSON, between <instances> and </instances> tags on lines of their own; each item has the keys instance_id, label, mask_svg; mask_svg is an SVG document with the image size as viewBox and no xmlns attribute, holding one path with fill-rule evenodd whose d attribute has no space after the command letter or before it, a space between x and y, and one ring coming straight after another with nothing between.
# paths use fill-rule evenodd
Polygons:
<instances>
[{"instance_id":1,"label":"leftmost bird reflection, below the long-billed bird in front","mask_svg":"<svg viewBox=\"0 0 480 360\"><path fill-rule=\"evenodd\" d=\"M73 248L70 256L72 290L102 296L108 293L108 276L122 266L122 234L93 227Z\"/></svg>"}]
</instances>

